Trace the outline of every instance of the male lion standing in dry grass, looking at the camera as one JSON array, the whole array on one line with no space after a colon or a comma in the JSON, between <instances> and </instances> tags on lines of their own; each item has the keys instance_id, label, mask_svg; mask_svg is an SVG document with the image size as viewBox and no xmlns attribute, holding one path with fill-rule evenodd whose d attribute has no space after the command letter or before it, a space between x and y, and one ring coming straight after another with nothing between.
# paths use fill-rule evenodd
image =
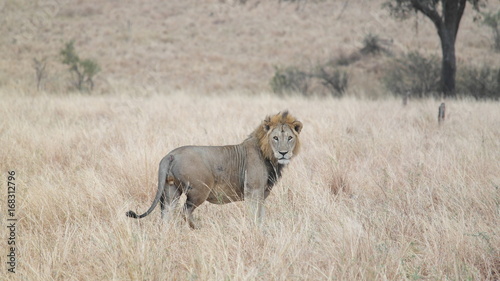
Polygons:
<instances>
[{"instance_id":1,"label":"male lion standing in dry grass, looking at the camera","mask_svg":"<svg viewBox=\"0 0 500 281\"><path fill-rule=\"evenodd\" d=\"M245 200L253 220L261 223L264 199L281 177L282 169L296 155L302 123L288 111L267 116L241 144L226 146L183 146L172 150L160 162L158 191L149 210L158 202L161 216L168 220L182 193L186 194L185 219L195 228L194 209L203 202L225 204Z\"/></svg>"}]
</instances>

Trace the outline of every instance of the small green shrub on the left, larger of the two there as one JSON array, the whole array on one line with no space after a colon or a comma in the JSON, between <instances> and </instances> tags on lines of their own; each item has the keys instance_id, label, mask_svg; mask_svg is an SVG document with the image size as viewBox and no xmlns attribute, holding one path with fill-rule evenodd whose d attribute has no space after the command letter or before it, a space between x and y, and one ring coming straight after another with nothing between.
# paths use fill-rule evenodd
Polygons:
<instances>
[{"instance_id":1,"label":"small green shrub on the left, larger of the two there","mask_svg":"<svg viewBox=\"0 0 500 281\"><path fill-rule=\"evenodd\" d=\"M99 65L91 59L80 59L76 54L74 41L65 44L61 50L62 63L69 65L73 76L72 84L79 91L94 89L94 76L100 71Z\"/></svg>"}]
</instances>

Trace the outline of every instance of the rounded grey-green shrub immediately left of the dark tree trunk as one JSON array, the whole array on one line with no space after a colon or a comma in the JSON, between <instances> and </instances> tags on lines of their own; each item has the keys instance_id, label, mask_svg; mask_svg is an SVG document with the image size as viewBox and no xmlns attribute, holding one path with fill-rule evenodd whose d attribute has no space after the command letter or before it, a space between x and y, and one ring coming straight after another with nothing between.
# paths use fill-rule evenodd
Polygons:
<instances>
[{"instance_id":1,"label":"rounded grey-green shrub immediately left of the dark tree trunk","mask_svg":"<svg viewBox=\"0 0 500 281\"><path fill-rule=\"evenodd\" d=\"M441 92L441 64L436 56L410 52L393 60L385 76L385 87L396 95L427 97Z\"/></svg>"}]
</instances>

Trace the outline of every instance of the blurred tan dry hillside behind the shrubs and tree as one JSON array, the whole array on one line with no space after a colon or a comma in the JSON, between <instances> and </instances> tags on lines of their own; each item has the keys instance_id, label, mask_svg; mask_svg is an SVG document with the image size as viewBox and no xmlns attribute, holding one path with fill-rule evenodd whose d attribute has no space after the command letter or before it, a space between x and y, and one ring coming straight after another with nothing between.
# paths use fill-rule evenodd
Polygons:
<instances>
[{"instance_id":1,"label":"blurred tan dry hillside behind the shrubs and tree","mask_svg":"<svg viewBox=\"0 0 500 281\"><path fill-rule=\"evenodd\" d=\"M102 67L97 93L121 93L130 85L259 93L269 90L276 66L309 67L349 55L369 33L391 41L395 55L418 50L440 56L430 20L396 21L381 8L384 1L3 0L0 86L34 91L33 58L47 57L45 90L66 92L68 71L59 52L71 39L81 57ZM500 9L498 0L485 3L484 11ZM475 16L467 7L458 65L498 66L490 30ZM350 66L351 92L385 95L378 82L384 62L369 58Z\"/></svg>"}]
</instances>

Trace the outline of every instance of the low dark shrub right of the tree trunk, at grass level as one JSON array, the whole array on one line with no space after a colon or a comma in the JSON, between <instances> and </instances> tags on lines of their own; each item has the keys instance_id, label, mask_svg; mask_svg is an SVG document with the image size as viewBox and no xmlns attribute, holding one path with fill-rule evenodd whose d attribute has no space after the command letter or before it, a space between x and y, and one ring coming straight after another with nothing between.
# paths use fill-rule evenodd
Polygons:
<instances>
[{"instance_id":1,"label":"low dark shrub right of the tree trunk, at grass level","mask_svg":"<svg viewBox=\"0 0 500 281\"><path fill-rule=\"evenodd\" d=\"M459 69L457 92L476 99L500 99L500 68L483 66Z\"/></svg>"}]
</instances>

